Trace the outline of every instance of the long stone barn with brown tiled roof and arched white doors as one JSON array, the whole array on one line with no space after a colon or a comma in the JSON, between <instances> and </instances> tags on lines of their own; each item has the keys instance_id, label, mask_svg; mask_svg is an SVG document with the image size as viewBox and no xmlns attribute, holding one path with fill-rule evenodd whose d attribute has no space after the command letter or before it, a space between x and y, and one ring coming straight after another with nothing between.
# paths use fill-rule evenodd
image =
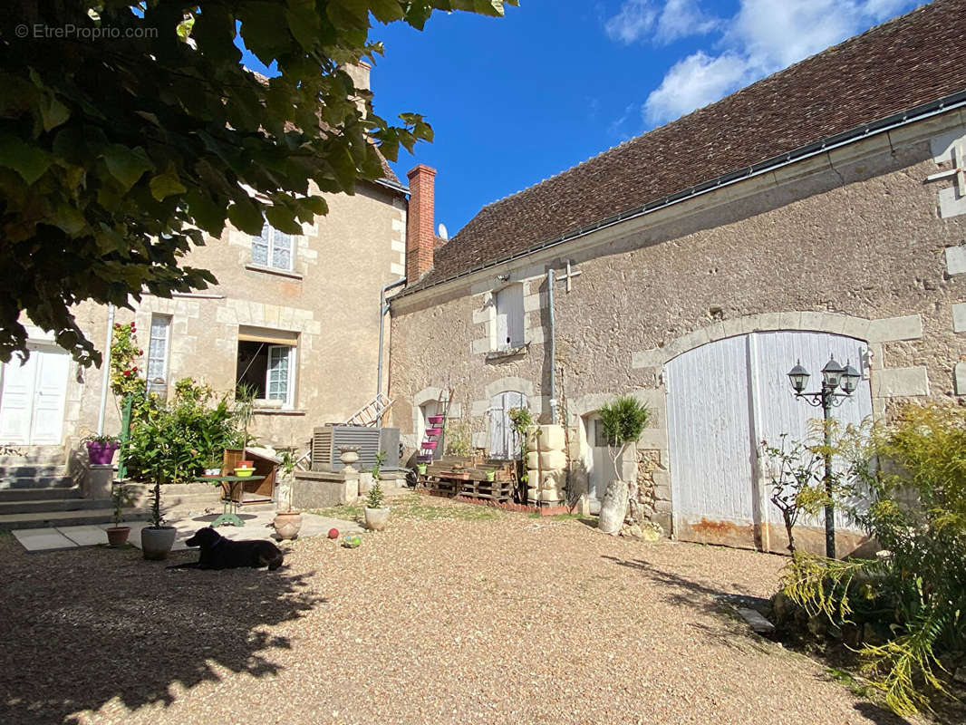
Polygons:
<instances>
[{"instance_id":1,"label":"long stone barn with brown tiled roof and arched white doors","mask_svg":"<svg viewBox=\"0 0 966 725\"><path fill-rule=\"evenodd\" d=\"M796 362L811 390L830 354L861 370L843 421L966 393L964 34L966 4L935 0L489 204L441 246L411 202L391 424L418 447L452 390L450 423L506 456L526 403L566 425L566 495L595 504L613 476L596 411L630 392L653 413L651 518L781 551L757 450L816 416Z\"/></svg>"}]
</instances>

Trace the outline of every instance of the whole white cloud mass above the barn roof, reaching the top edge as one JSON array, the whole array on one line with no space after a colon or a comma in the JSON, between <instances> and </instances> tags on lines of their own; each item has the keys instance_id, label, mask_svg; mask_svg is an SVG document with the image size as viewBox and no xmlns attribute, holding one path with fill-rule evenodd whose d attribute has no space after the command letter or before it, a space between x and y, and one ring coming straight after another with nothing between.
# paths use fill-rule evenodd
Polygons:
<instances>
[{"instance_id":1,"label":"whole white cloud mass above the barn roof, reaching the top edge","mask_svg":"<svg viewBox=\"0 0 966 725\"><path fill-rule=\"evenodd\" d=\"M712 49L698 50L671 67L644 102L644 121L654 125L690 113L917 4L916 0L741 0L737 14L716 20L691 0L668 0L656 21L660 37L712 30L720 37ZM662 32L661 19L671 9L680 10L678 17L693 19L668 25Z\"/></svg>"}]
</instances>

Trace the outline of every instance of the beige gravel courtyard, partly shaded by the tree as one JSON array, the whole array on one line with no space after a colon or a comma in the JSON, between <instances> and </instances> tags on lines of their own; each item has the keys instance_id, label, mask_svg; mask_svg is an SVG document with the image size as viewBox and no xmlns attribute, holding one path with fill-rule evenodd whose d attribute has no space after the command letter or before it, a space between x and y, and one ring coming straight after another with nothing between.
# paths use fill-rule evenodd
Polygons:
<instances>
[{"instance_id":1,"label":"beige gravel courtyard, partly shaded by the tree","mask_svg":"<svg viewBox=\"0 0 966 725\"><path fill-rule=\"evenodd\" d=\"M0 536L0 722L901 722L716 599L771 594L779 557L394 507L359 549L297 541L274 573Z\"/></svg>"}]
</instances>

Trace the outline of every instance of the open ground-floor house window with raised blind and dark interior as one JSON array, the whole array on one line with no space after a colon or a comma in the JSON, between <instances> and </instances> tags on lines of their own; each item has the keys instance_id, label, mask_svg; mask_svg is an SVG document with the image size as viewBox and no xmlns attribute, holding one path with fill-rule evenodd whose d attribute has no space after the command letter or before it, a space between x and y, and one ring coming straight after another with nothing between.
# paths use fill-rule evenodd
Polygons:
<instances>
[{"instance_id":1,"label":"open ground-floor house window with raised blind and dark interior","mask_svg":"<svg viewBox=\"0 0 966 725\"><path fill-rule=\"evenodd\" d=\"M298 335L242 326L236 384L255 391L256 404L268 408L295 406Z\"/></svg>"}]
</instances>

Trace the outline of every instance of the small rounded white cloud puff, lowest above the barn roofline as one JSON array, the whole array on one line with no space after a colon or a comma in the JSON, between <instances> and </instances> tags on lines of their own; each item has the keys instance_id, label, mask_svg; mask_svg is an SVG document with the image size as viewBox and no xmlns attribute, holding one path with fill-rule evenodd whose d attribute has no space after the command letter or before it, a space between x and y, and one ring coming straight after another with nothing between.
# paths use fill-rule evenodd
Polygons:
<instances>
[{"instance_id":1,"label":"small rounded white cloud puff, lowest above the barn roofline","mask_svg":"<svg viewBox=\"0 0 966 725\"><path fill-rule=\"evenodd\" d=\"M744 82L748 63L730 53L710 56L701 50L678 61L644 102L644 120L660 124L718 100Z\"/></svg>"}]
</instances>

